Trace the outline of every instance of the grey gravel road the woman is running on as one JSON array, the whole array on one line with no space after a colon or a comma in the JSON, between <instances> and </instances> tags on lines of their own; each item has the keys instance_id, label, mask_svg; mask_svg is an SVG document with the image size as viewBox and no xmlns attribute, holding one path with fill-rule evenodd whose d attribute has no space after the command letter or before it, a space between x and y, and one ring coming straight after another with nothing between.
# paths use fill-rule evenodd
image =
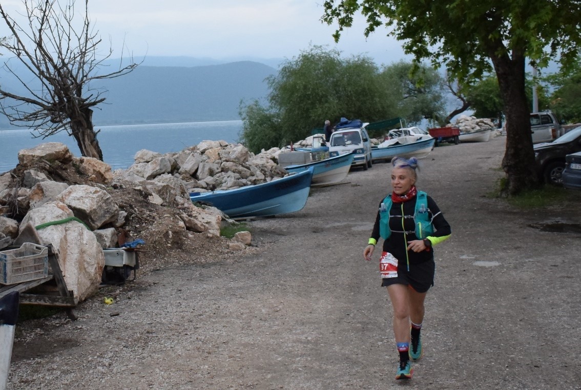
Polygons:
<instances>
[{"instance_id":1,"label":"grey gravel road the woman is running on","mask_svg":"<svg viewBox=\"0 0 581 390\"><path fill-rule=\"evenodd\" d=\"M485 197L504 138L436 148L418 186L453 230L438 245L425 355L396 383L391 308L361 256L389 165L315 189L295 214L250 223L235 261L164 268L64 315L24 323L10 389L579 389L579 204L519 211ZM377 254L375 258L377 258ZM111 316L119 313L119 315Z\"/></svg>"}]
</instances>

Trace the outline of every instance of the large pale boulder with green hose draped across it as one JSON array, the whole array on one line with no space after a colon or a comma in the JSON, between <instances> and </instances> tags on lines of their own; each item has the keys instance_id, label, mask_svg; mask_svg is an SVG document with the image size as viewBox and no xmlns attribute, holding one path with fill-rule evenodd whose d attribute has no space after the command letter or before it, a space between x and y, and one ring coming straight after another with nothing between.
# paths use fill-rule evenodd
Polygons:
<instances>
[{"instance_id":1,"label":"large pale boulder with green hose draped across it","mask_svg":"<svg viewBox=\"0 0 581 390\"><path fill-rule=\"evenodd\" d=\"M34 226L73 216L66 204L54 201L30 210L21 223ZM79 302L94 295L101 284L105 257L95 234L82 223L69 221L38 230L43 245L52 244L69 290Z\"/></svg>"}]
</instances>

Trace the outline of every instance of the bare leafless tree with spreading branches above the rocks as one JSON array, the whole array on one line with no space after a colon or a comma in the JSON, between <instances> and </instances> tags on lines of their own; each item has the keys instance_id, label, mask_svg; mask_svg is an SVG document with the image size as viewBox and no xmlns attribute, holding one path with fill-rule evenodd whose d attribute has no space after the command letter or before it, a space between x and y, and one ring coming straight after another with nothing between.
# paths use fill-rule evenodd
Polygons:
<instances>
[{"instance_id":1,"label":"bare leafless tree with spreading branches above the rocks","mask_svg":"<svg viewBox=\"0 0 581 390\"><path fill-rule=\"evenodd\" d=\"M34 82L6 62L3 68L24 86L24 93L5 91L0 86L0 113L10 123L33 129L33 136L43 139L66 130L73 136L85 157L103 160L103 153L92 123L92 107L105 101L102 93L91 89L91 81L130 73L137 63L122 66L112 73L99 74L113 51L98 55L102 39L94 30L88 13L76 15L76 3L67 0L23 0L26 23L21 26L0 3L0 16L12 37L0 41L17 64L33 75ZM28 80L28 81L27 81ZM38 82L40 81L40 83Z\"/></svg>"}]
</instances>

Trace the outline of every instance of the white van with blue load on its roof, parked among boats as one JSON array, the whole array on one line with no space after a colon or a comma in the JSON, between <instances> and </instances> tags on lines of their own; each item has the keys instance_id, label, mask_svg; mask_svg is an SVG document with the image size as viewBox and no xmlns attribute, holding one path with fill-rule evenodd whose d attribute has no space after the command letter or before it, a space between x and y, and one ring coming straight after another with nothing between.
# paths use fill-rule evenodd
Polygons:
<instances>
[{"instance_id":1,"label":"white van with blue load on its roof, parked among boats","mask_svg":"<svg viewBox=\"0 0 581 390\"><path fill-rule=\"evenodd\" d=\"M355 153L352 167L363 167L364 170L371 168L371 142L365 126L354 128L342 128L331 134L329 140L329 157L339 156L339 154Z\"/></svg>"}]
</instances>

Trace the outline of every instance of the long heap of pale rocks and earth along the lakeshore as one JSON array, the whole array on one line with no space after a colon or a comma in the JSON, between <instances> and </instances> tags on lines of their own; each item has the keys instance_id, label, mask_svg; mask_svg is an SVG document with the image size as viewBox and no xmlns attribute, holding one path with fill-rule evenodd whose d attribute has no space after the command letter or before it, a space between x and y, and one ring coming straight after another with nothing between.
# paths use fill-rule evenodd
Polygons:
<instances>
[{"instance_id":1,"label":"long heap of pale rocks and earth along the lakeshore","mask_svg":"<svg viewBox=\"0 0 581 390\"><path fill-rule=\"evenodd\" d=\"M155 229L164 231L153 232L157 236L171 236L173 229L219 237L227 216L213 207L196 207L189 192L281 178L286 171L277 165L280 152L274 148L255 156L240 144L203 141L178 153L141 150L135 164L112 172L95 158L74 157L62 143L20 150L17 167L0 175L0 250L25 226L62 222L39 229L38 237L52 244L67 287L83 301L101 283L102 248L117 247L121 232L131 236L129 222L156 225L163 219L165 225ZM250 240L249 233L237 234L229 249L241 250Z\"/></svg>"}]
</instances>

